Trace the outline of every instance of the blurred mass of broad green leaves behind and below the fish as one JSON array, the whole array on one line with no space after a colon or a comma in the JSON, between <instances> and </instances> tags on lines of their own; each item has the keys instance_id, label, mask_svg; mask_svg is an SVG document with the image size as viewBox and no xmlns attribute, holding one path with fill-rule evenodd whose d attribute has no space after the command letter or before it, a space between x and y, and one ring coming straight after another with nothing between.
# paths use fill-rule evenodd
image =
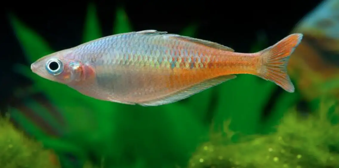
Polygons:
<instances>
[{"instance_id":1,"label":"blurred mass of broad green leaves behind and below the fish","mask_svg":"<svg viewBox=\"0 0 339 168\"><path fill-rule=\"evenodd\" d=\"M54 52L38 33L15 15L10 15L10 20L29 63ZM126 13L123 8L118 8L112 33L130 31L132 26ZM197 31L198 24L192 24L179 34L192 37ZM81 42L99 37L102 33L96 8L89 4ZM268 45L262 39L250 52L262 50ZM67 129L58 138L44 136L39 131L41 128L32 122L26 121L25 125L33 129L31 135L47 148L54 149L60 160L69 166L72 163L67 157L63 159L64 153L74 154L80 163L91 157L99 164L105 158L104 165L115 167L185 166L202 139L208 137L212 121L206 120L206 116L213 116L216 128L222 126L224 120L231 119L230 128L234 131L263 133L270 131L266 128L276 125L298 99L297 94L284 92L273 106L274 113L267 122L261 122L261 113L277 86L253 75L238 75L234 80L174 104L141 107L84 96L66 85L33 74L27 65L17 65L15 70L31 78L34 89L45 93L62 112ZM40 111L38 107L36 110ZM19 109L12 108L12 111L17 111L14 118L25 121ZM48 119L43 113L40 115ZM53 118L48 121L52 122ZM89 156L90 152L95 155Z\"/></svg>"}]
</instances>

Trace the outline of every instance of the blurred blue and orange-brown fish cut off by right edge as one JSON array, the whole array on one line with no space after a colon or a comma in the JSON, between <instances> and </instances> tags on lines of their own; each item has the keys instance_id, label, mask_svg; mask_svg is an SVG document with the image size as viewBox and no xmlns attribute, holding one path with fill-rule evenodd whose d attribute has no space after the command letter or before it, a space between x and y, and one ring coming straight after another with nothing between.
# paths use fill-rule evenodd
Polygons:
<instances>
[{"instance_id":1,"label":"blurred blue and orange-brown fish cut off by right edge","mask_svg":"<svg viewBox=\"0 0 339 168\"><path fill-rule=\"evenodd\" d=\"M307 101L339 97L339 1L322 1L292 32L304 35L287 67L297 90Z\"/></svg>"}]
</instances>

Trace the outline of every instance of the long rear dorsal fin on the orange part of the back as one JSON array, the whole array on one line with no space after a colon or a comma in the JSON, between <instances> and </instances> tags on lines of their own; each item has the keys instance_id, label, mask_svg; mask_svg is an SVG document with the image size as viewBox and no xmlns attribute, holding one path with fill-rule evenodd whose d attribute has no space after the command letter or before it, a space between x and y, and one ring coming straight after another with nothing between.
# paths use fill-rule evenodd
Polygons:
<instances>
[{"instance_id":1,"label":"long rear dorsal fin on the orange part of the back","mask_svg":"<svg viewBox=\"0 0 339 168\"><path fill-rule=\"evenodd\" d=\"M215 48L215 49L219 49L219 50L234 52L234 50L231 49L230 47L225 46L225 45L221 45L219 43L212 42L212 41L207 41L207 40L202 40L202 39L197 39L197 38L192 38L192 37L187 37L187 36L173 36L173 38L178 38L178 39L193 42L193 43L196 43L196 44L205 45L205 46Z\"/></svg>"}]
</instances>

